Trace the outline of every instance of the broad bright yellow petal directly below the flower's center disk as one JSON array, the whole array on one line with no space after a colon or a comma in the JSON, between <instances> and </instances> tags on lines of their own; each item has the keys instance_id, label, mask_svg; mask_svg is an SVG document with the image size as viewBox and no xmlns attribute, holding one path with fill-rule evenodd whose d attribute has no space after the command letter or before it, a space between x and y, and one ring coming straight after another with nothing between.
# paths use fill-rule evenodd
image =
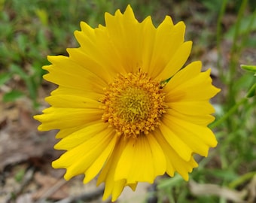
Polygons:
<instances>
[{"instance_id":1,"label":"broad bright yellow petal directly below the flower's center disk","mask_svg":"<svg viewBox=\"0 0 256 203\"><path fill-rule=\"evenodd\" d=\"M127 139L114 180L125 179L126 183L153 183L154 178L165 170L166 159L160 145L153 135L142 135L136 139Z\"/></svg>"}]
</instances>

